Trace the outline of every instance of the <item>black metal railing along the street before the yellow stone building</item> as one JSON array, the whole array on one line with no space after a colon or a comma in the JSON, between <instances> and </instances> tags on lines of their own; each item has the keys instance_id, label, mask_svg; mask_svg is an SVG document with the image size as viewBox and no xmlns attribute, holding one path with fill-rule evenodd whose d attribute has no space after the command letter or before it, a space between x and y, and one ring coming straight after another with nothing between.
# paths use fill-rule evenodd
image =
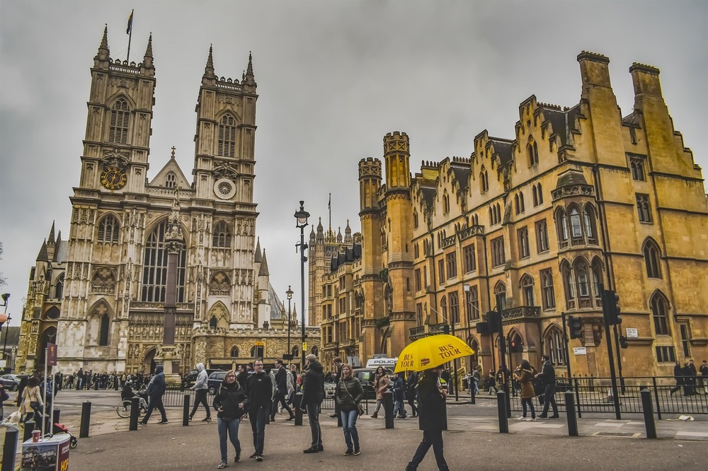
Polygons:
<instances>
[{"instance_id":1,"label":"black metal railing along the street before the yellow stone building","mask_svg":"<svg viewBox=\"0 0 708 471\"><path fill-rule=\"evenodd\" d=\"M624 378L624 386L617 380L619 397L619 412L627 414L641 414L641 395L644 388L651 392L653 410L658 419L661 414L708 414L708 395L700 377L688 378L692 381L685 385L671 385L675 380L670 377L632 377ZM693 381L695 380L695 383ZM556 389L556 403L558 409L566 409L564 392L573 391L578 417L583 412L615 412L612 398L610 378L559 378ZM512 412L519 412L521 408L520 392L510 398ZM534 408L543 407L540 397L535 397Z\"/></svg>"}]
</instances>

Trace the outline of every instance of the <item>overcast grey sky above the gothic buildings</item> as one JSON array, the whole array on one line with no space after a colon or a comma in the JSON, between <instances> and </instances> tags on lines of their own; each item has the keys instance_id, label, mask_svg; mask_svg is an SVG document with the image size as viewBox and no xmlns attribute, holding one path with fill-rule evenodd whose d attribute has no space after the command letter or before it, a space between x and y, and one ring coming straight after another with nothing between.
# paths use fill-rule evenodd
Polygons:
<instances>
[{"instance_id":1,"label":"overcast grey sky above the gothic buildings","mask_svg":"<svg viewBox=\"0 0 708 471\"><path fill-rule=\"evenodd\" d=\"M299 300L299 199L326 226L358 231L357 163L384 134L421 160L467 157L484 129L513 138L518 105L578 103L581 50L610 57L622 115L632 62L661 69L663 95L696 163L708 167L707 1L0 1L0 240L18 325L29 269L52 220L68 237L79 183L90 67L108 24L113 58L153 35L152 178L176 146L191 178L195 104L209 45L215 72L258 83L257 232L280 298ZM309 228L307 228L309 234ZM298 306L299 311L299 306Z\"/></svg>"}]
</instances>

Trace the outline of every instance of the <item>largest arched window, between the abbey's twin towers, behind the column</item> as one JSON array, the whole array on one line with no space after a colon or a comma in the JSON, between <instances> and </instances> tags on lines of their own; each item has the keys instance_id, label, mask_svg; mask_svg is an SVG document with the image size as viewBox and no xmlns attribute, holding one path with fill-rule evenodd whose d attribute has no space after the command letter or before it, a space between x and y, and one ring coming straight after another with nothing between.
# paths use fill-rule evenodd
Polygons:
<instances>
[{"instance_id":1,"label":"largest arched window, between the abbey's twin towers, behind the column","mask_svg":"<svg viewBox=\"0 0 708 471\"><path fill-rule=\"evenodd\" d=\"M167 286L167 250L165 233L167 221L162 221L147 236L143 257L142 301L165 301ZM177 255L177 302L184 302L186 250Z\"/></svg>"}]
</instances>

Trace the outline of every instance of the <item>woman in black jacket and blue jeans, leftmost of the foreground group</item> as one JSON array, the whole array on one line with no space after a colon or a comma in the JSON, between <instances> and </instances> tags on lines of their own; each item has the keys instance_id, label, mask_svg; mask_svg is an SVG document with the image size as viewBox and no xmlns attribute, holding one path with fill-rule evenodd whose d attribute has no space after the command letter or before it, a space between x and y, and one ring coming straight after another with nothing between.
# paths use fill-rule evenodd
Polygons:
<instances>
[{"instance_id":1,"label":"woman in black jacket and blue jeans, leftmost of the foreground group","mask_svg":"<svg viewBox=\"0 0 708 471\"><path fill-rule=\"evenodd\" d=\"M214 398L214 408L217 411L217 429L219 431L219 450L221 451L221 463L217 468L222 469L229 465L228 450L226 444L227 435L231 440L236 456L234 462L241 458L241 442L239 441L239 424L244 415L244 399L246 394L236 381L236 373L232 370L226 373L224 381L219 386Z\"/></svg>"}]
</instances>

